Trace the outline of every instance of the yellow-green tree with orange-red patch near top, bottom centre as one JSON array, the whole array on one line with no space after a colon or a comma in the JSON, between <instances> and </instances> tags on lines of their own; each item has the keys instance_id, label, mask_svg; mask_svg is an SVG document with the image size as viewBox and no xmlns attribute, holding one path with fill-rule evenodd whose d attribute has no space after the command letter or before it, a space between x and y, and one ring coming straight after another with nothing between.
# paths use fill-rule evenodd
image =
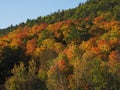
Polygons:
<instances>
[{"instance_id":1,"label":"yellow-green tree with orange-red patch near top, bottom centre","mask_svg":"<svg viewBox=\"0 0 120 90\"><path fill-rule=\"evenodd\" d=\"M72 66L66 56L60 55L47 73L47 87L50 90L68 90L69 76L72 72Z\"/></svg>"}]
</instances>

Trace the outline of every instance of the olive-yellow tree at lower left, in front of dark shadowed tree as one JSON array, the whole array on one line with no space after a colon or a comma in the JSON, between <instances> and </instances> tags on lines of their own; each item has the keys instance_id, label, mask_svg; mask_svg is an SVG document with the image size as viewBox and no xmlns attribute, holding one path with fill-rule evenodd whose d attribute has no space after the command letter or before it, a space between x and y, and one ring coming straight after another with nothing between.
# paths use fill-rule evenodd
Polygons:
<instances>
[{"instance_id":1,"label":"olive-yellow tree at lower left, in front of dark shadowed tree","mask_svg":"<svg viewBox=\"0 0 120 90\"><path fill-rule=\"evenodd\" d=\"M45 83L31 73L31 68L29 68L29 71L23 63L15 66L12 70L13 76L5 83L6 90L47 90Z\"/></svg>"}]
</instances>

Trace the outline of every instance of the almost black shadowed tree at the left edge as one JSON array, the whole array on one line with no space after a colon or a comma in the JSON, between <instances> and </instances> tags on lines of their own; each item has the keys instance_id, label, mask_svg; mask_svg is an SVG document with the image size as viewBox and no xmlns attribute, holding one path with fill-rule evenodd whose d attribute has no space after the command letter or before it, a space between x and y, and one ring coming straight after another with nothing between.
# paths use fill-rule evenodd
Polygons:
<instances>
[{"instance_id":1,"label":"almost black shadowed tree at the left edge","mask_svg":"<svg viewBox=\"0 0 120 90\"><path fill-rule=\"evenodd\" d=\"M0 52L0 83L4 83L5 79L12 75L10 72L15 64L20 61L26 62L27 56L21 47L11 48L6 46Z\"/></svg>"}]
</instances>

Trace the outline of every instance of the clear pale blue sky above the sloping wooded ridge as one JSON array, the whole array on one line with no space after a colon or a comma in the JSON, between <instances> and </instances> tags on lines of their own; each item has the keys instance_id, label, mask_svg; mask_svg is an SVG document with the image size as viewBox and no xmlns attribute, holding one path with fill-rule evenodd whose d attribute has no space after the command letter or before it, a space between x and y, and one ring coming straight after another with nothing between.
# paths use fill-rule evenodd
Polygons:
<instances>
[{"instance_id":1,"label":"clear pale blue sky above the sloping wooded ridge","mask_svg":"<svg viewBox=\"0 0 120 90\"><path fill-rule=\"evenodd\" d=\"M0 28L25 22L28 18L35 19L59 9L78 6L86 0L1 0Z\"/></svg>"}]
</instances>

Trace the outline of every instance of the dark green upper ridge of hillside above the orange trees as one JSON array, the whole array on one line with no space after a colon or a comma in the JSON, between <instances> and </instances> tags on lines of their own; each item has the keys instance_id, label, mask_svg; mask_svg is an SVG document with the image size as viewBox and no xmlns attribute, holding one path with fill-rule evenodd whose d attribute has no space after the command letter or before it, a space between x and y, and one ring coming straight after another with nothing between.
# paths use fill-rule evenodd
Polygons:
<instances>
[{"instance_id":1,"label":"dark green upper ridge of hillside above the orange trees","mask_svg":"<svg viewBox=\"0 0 120 90\"><path fill-rule=\"evenodd\" d=\"M47 23L52 24L55 22L65 20L77 20L79 18L95 18L103 16L107 21L120 20L120 1L119 0L87 0L87 2L80 3L78 7L69 10L58 10L50 15L38 17L37 19L27 19L26 23L21 22L16 26L9 26L5 29L0 29L0 36L13 31L19 26L32 27L35 24Z\"/></svg>"}]
</instances>

